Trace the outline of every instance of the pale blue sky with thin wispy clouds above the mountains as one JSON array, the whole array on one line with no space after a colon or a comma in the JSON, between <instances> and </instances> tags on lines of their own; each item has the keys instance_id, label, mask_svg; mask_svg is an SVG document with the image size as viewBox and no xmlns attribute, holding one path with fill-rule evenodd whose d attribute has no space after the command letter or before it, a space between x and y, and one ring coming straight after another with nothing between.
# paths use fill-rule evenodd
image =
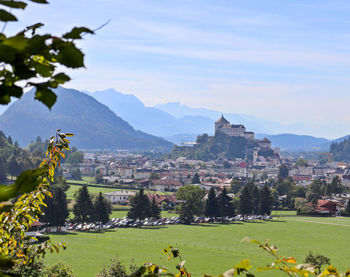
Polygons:
<instances>
[{"instance_id":1,"label":"pale blue sky with thin wispy clouds above the mountains","mask_svg":"<svg viewBox=\"0 0 350 277\"><path fill-rule=\"evenodd\" d=\"M67 87L113 88L148 106L181 102L350 134L350 1L52 0L15 12L16 32L95 29ZM295 131L297 132L297 131Z\"/></svg>"}]
</instances>

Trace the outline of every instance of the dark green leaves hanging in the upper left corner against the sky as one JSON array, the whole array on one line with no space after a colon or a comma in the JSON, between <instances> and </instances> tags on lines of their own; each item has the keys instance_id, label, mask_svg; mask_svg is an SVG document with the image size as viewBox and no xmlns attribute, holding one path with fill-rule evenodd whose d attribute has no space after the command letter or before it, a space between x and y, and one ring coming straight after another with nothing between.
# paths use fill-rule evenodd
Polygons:
<instances>
[{"instance_id":1,"label":"dark green leaves hanging in the upper left corner against the sky","mask_svg":"<svg viewBox=\"0 0 350 277\"><path fill-rule=\"evenodd\" d=\"M32 0L47 3L44 0ZM0 5L11 9L24 9L27 4L21 1L1 1ZM0 9L0 21L17 21L17 18L6 10ZM0 34L0 104L8 104L11 97L20 98L23 87L35 87L35 99L49 109L56 102L52 89L70 80L69 76L57 72L57 67L84 67L84 54L75 45L75 39L81 39L82 33L93 34L87 28L74 28L62 37L51 34L39 35L37 29L44 24L36 23L7 37ZM72 35L73 33L73 35ZM33 81L34 78L42 81ZM19 86L21 83L21 86Z\"/></svg>"}]
</instances>

